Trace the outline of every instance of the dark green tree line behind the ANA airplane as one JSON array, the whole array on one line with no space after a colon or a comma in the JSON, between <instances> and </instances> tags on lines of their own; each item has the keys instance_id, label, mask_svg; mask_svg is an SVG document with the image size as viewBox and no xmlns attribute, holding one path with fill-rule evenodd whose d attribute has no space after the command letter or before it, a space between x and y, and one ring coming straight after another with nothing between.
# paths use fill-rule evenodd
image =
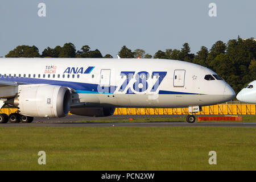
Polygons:
<instances>
[{"instance_id":1,"label":"dark green tree line behind the ANA airplane","mask_svg":"<svg viewBox=\"0 0 256 182\"><path fill-rule=\"evenodd\" d=\"M181 49L166 49L157 51L154 56L143 49L131 49L123 46L118 52L121 58L148 58L173 59L195 63L212 69L220 75L238 93L243 86L256 80L256 41L254 38L231 39L228 43L217 41L208 50L202 46L196 54L191 53L188 43L184 43ZM94 51L89 46L82 46L76 50L73 43L65 43L63 47L47 47L39 53L36 46L17 46L5 57L77 57L77 58L113 58L112 55L102 56L98 49Z\"/></svg>"}]
</instances>

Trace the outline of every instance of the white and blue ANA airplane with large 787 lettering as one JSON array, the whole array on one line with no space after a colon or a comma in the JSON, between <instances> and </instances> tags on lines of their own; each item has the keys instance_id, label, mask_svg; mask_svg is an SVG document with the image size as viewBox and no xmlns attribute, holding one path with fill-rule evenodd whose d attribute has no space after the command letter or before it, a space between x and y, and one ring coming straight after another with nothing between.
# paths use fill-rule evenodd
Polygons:
<instances>
[{"instance_id":1,"label":"white and blue ANA airplane with large 787 lettering","mask_svg":"<svg viewBox=\"0 0 256 182\"><path fill-rule=\"evenodd\" d=\"M1 58L0 123L29 123L34 117L70 113L113 115L115 107L188 107L187 122L201 106L235 96L215 72L197 64L164 59Z\"/></svg>"}]
</instances>

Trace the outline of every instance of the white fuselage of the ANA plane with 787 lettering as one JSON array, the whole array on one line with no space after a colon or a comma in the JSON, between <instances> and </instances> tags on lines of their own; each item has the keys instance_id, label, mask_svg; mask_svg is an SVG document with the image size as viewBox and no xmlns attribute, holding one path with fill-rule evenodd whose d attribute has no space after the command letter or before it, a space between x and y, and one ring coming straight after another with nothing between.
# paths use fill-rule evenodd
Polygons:
<instances>
[{"instance_id":1,"label":"white fuselage of the ANA plane with 787 lettering","mask_svg":"<svg viewBox=\"0 0 256 182\"><path fill-rule=\"evenodd\" d=\"M68 58L0 61L0 80L18 85L66 86L76 93L73 105L85 102L90 106L187 107L218 104L235 96L224 80L212 76L216 73L184 61ZM206 75L214 80L206 80ZM1 90L0 96L6 96L6 92Z\"/></svg>"}]
</instances>

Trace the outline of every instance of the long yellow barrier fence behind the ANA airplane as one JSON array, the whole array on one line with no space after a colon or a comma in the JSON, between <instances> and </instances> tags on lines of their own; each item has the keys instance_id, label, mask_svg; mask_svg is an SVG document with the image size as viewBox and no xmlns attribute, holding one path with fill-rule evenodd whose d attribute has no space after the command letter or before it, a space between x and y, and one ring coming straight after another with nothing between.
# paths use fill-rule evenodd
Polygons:
<instances>
[{"instance_id":1,"label":"long yellow barrier fence behind the ANA airplane","mask_svg":"<svg viewBox=\"0 0 256 182\"><path fill-rule=\"evenodd\" d=\"M241 115L256 114L256 104L218 104L203 106L203 111L195 113L202 115L224 114ZM1 109L1 113L15 113L17 109ZM188 108L121 108L115 109L114 114L188 114Z\"/></svg>"}]
</instances>

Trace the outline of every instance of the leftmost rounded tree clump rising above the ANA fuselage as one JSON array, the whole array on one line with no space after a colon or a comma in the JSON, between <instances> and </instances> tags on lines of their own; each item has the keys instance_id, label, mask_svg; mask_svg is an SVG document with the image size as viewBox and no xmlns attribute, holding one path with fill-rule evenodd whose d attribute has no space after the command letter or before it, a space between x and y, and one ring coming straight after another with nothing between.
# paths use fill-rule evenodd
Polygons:
<instances>
[{"instance_id":1,"label":"leftmost rounded tree clump rising above the ANA fuselage","mask_svg":"<svg viewBox=\"0 0 256 182\"><path fill-rule=\"evenodd\" d=\"M17 46L13 51L7 53L5 57L41 57L39 50L35 46Z\"/></svg>"}]
</instances>

